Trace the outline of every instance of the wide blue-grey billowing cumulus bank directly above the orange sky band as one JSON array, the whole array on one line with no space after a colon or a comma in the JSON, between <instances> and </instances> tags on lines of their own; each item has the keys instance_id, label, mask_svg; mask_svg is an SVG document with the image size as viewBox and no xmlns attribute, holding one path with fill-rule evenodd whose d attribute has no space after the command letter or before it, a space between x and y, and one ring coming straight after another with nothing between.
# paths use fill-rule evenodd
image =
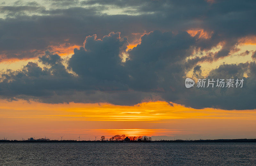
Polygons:
<instances>
[{"instance_id":1,"label":"wide blue-grey billowing cumulus bank directly above the orange sky band","mask_svg":"<svg viewBox=\"0 0 256 166\"><path fill-rule=\"evenodd\" d=\"M59 55L45 52L39 57L45 67L29 62L21 70L2 73L0 95L4 99L46 103L134 105L164 100L193 108L256 108L255 62L223 64L206 77L244 78L243 88L185 88L185 59L193 52L195 40L187 32L154 31L142 36L141 43L126 52L129 43L120 32L111 32L102 39L87 36L84 46L74 50L67 68ZM122 53L129 55L125 62ZM201 72L201 66L194 67L194 75L199 77Z\"/></svg>"}]
</instances>

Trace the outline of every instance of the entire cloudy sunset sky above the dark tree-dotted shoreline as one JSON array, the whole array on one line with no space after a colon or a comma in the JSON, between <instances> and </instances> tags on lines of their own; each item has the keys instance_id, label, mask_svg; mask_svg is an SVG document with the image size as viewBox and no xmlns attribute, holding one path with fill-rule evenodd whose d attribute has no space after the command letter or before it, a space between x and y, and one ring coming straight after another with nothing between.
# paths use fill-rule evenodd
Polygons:
<instances>
[{"instance_id":1,"label":"entire cloudy sunset sky above the dark tree-dotted shoreline","mask_svg":"<svg viewBox=\"0 0 256 166\"><path fill-rule=\"evenodd\" d=\"M255 4L0 0L0 139L255 138Z\"/></svg>"}]
</instances>

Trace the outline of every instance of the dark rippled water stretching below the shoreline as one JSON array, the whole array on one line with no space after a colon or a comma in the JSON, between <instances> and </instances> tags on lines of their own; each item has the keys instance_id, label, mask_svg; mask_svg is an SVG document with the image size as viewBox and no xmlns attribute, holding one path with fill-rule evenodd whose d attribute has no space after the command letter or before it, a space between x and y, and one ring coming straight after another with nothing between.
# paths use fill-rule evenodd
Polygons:
<instances>
[{"instance_id":1,"label":"dark rippled water stretching below the shoreline","mask_svg":"<svg viewBox=\"0 0 256 166\"><path fill-rule=\"evenodd\" d=\"M256 165L256 143L1 143L0 165Z\"/></svg>"}]
</instances>

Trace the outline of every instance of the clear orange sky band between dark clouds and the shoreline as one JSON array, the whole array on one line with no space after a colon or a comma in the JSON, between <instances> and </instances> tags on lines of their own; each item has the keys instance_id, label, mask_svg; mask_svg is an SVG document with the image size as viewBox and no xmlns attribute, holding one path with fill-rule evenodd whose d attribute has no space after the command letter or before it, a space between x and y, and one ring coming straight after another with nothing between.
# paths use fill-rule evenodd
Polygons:
<instances>
[{"instance_id":1,"label":"clear orange sky band between dark clouds and the shoreline","mask_svg":"<svg viewBox=\"0 0 256 166\"><path fill-rule=\"evenodd\" d=\"M116 134L182 139L256 137L255 110L192 109L162 101L136 106L0 102L0 137L8 139L44 135L77 139L81 135L82 140L92 140L94 135L109 138Z\"/></svg>"}]
</instances>

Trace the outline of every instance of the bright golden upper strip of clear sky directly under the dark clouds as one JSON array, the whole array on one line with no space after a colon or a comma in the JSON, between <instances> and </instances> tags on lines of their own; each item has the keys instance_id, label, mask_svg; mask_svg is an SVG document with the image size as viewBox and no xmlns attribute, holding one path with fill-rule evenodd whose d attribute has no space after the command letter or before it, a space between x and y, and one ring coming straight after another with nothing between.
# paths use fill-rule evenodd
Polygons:
<instances>
[{"instance_id":1,"label":"bright golden upper strip of clear sky directly under the dark clouds","mask_svg":"<svg viewBox=\"0 0 256 166\"><path fill-rule=\"evenodd\" d=\"M33 107L31 107L33 106ZM5 118L51 118L51 119L76 119L87 121L157 121L164 119L237 119L247 118L251 110L222 110L214 108L195 109L167 102L144 102L135 106L119 106L108 103L69 103L47 104L34 101L1 100L1 110L12 109L11 113L1 113ZM33 111L38 111L33 114ZM52 111L52 112L49 112ZM31 116L24 116L29 112ZM47 113L47 114L44 114ZM239 114L239 116L237 116ZM253 116L252 116L253 115ZM256 114L252 114L256 120Z\"/></svg>"}]
</instances>

